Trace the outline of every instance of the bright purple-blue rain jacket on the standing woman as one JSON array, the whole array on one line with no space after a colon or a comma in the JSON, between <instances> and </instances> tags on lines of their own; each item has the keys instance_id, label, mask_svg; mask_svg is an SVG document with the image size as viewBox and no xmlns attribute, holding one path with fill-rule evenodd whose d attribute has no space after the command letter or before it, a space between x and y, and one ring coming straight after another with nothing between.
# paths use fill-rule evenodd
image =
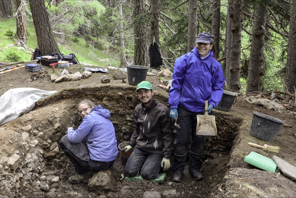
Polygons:
<instances>
[{"instance_id":1,"label":"bright purple-blue rain jacket on the standing woman","mask_svg":"<svg viewBox=\"0 0 296 198\"><path fill-rule=\"evenodd\" d=\"M180 105L189 111L201 112L205 100L215 107L222 98L224 82L221 64L213 57L213 52L202 60L194 47L175 61L168 98L170 108Z\"/></svg>"}]
</instances>

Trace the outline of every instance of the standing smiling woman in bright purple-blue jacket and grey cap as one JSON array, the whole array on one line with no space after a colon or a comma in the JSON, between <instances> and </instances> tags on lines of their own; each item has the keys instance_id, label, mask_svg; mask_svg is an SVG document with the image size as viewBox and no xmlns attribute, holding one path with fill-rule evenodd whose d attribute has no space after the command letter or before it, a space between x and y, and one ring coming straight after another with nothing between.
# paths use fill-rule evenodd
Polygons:
<instances>
[{"instance_id":1,"label":"standing smiling woman in bright purple-blue jacket and grey cap","mask_svg":"<svg viewBox=\"0 0 296 198\"><path fill-rule=\"evenodd\" d=\"M197 115L204 115L205 100L211 110L218 105L223 94L224 75L221 64L213 57L211 51L214 36L207 32L197 36L196 47L191 52L175 61L172 87L168 103L170 117L180 128L176 129L174 140L173 181L180 182L188 155L188 144L191 132L188 169L194 179L203 178L200 169L204 154L205 137L196 135Z\"/></svg>"}]
</instances>

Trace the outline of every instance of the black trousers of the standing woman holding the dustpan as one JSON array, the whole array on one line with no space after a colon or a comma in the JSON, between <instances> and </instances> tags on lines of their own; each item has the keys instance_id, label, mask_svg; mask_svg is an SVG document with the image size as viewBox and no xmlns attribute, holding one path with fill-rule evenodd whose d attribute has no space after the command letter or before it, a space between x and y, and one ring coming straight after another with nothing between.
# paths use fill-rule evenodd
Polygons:
<instances>
[{"instance_id":1,"label":"black trousers of the standing woman holding the dustpan","mask_svg":"<svg viewBox=\"0 0 296 198\"><path fill-rule=\"evenodd\" d=\"M178 106L177 123L180 128L176 129L176 138L174 140L174 160L172 168L176 171L184 171L185 162L188 155L188 144L191 134L191 145L189 150L189 173L200 171L202 167L201 158L204 155L205 137L196 135L197 115L204 115L204 112L192 112L181 106ZM212 114L212 112L210 113Z\"/></svg>"}]
</instances>

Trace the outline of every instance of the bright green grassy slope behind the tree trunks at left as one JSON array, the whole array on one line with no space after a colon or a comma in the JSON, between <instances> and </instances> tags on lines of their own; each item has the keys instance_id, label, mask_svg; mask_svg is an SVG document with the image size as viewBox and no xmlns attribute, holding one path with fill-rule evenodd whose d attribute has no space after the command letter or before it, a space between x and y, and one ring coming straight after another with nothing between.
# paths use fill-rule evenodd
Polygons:
<instances>
[{"instance_id":1,"label":"bright green grassy slope behind the tree trunks at left","mask_svg":"<svg viewBox=\"0 0 296 198\"><path fill-rule=\"evenodd\" d=\"M6 36L7 32L14 32L16 30L16 18L6 19L0 21L0 62L12 62L7 59L7 55L15 52L20 61L29 61L32 54L28 53L24 47L17 46L13 37ZM36 32L32 19L27 19L27 46L35 49L37 47ZM74 42L75 41L75 42ZM66 36L64 45L58 45L59 50L64 55L74 53L81 64L91 64L98 67L119 67L120 58L119 54L114 52L108 52L94 48L90 46L88 41L85 41L82 37ZM101 41L104 43L104 41ZM28 49L29 52L32 52Z\"/></svg>"}]
</instances>

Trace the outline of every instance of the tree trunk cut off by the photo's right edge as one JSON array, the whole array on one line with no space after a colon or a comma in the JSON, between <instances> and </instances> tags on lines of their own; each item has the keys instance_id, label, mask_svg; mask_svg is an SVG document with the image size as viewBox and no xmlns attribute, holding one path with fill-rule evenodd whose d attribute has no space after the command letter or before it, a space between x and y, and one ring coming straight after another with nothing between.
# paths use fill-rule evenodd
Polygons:
<instances>
[{"instance_id":1,"label":"tree trunk cut off by the photo's right edge","mask_svg":"<svg viewBox=\"0 0 296 198\"><path fill-rule=\"evenodd\" d=\"M294 88L296 88L296 1L292 1L291 6L286 67L286 86L288 91L292 93L294 92Z\"/></svg>"}]
</instances>

